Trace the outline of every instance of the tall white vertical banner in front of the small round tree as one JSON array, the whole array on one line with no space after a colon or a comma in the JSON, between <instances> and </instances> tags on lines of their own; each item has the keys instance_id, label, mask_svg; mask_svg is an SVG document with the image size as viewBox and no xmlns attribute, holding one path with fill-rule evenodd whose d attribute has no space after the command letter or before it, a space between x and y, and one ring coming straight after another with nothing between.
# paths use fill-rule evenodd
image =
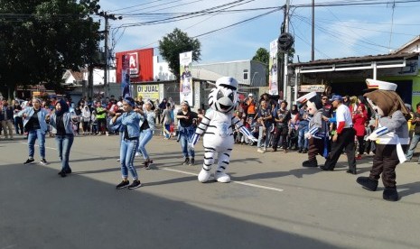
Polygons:
<instances>
[{"instance_id":1,"label":"tall white vertical banner in front of the small round tree","mask_svg":"<svg viewBox=\"0 0 420 249\"><path fill-rule=\"evenodd\" d=\"M191 76L192 51L180 53L180 101L188 101L192 104L192 76Z\"/></svg>"}]
</instances>

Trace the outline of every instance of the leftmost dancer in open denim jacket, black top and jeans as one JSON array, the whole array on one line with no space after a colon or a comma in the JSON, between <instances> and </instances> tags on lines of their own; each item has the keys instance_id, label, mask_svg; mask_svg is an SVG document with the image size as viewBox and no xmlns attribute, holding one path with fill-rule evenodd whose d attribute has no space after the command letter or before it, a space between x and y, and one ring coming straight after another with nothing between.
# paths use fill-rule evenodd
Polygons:
<instances>
[{"instance_id":1,"label":"leftmost dancer in open denim jacket, black top and jeans","mask_svg":"<svg viewBox=\"0 0 420 249\"><path fill-rule=\"evenodd\" d=\"M29 157L23 164L30 164L35 161L35 141L38 139L40 147L41 164L47 165L45 160L45 133L48 131L46 119L49 118L48 112L41 107L42 102L39 98L33 98L33 106L28 106L17 115L23 117L23 127L28 132Z\"/></svg>"}]
</instances>

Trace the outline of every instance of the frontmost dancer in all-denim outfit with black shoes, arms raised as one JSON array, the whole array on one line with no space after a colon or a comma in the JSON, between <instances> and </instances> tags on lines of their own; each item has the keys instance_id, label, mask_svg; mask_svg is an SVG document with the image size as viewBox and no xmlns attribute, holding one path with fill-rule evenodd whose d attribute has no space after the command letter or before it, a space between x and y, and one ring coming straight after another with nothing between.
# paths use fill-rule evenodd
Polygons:
<instances>
[{"instance_id":1,"label":"frontmost dancer in all-denim outfit with black shoes, arms raised","mask_svg":"<svg viewBox=\"0 0 420 249\"><path fill-rule=\"evenodd\" d=\"M126 97L123 100L124 113L116 113L111 119L110 124L121 125L123 134L120 143L119 161L121 163L121 175L123 180L117 185L117 189L136 189L142 186L138 180L137 171L134 167L135 152L137 151L140 136L140 120L144 117L141 110L135 109L135 100ZM138 113L140 112L140 113ZM128 180L130 172L133 182Z\"/></svg>"}]
</instances>

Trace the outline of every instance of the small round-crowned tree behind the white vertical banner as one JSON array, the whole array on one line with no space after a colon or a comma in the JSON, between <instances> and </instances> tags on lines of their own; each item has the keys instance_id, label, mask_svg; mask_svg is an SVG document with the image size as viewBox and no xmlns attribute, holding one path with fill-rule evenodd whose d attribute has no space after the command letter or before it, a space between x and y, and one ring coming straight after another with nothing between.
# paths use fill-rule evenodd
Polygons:
<instances>
[{"instance_id":1,"label":"small round-crowned tree behind the white vertical banner","mask_svg":"<svg viewBox=\"0 0 420 249\"><path fill-rule=\"evenodd\" d=\"M201 43L198 39L188 37L186 32L175 28L159 41L159 52L175 77L180 79L180 53L192 51L192 60L201 60Z\"/></svg>"}]
</instances>

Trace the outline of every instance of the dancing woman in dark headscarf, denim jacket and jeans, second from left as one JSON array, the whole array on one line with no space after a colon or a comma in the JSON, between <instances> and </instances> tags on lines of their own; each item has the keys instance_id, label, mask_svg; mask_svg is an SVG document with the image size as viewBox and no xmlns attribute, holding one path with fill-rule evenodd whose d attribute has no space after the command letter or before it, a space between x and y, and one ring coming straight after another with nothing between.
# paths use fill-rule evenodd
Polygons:
<instances>
[{"instance_id":1,"label":"dancing woman in dark headscarf, denim jacket and jeans, second from left","mask_svg":"<svg viewBox=\"0 0 420 249\"><path fill-rule=\"evenodd\" d=\"M77 118L77 116L71 116L66 101L60 99L55 104L55 112L51 115L50 124L57 130L55 142L61 161L61 171L59 172L61 177L66 177L67 174L71 173L69 159L71 145L74 141L72 118Z\"/></svg>"}]
</instances>

